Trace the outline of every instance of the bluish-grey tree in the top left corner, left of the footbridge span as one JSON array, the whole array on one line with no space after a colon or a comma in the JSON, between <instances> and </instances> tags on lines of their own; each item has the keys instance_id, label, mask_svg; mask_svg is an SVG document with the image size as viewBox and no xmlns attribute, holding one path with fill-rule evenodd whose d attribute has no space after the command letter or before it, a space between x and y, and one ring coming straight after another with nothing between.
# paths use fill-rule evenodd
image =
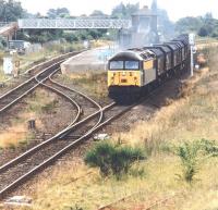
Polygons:
<instances>
[{"instance_id":1,"label":"bluish-grey tree in the top left corner, left of the footbridge span","mask_svg":"<svg viewBox=\"0 0 218 210\"><path fill-rule=\"evenodd\" d=\"M0 0L0 22L15 22L25 15L21 2L14 0Z\"/></svg>"}]
</instances>

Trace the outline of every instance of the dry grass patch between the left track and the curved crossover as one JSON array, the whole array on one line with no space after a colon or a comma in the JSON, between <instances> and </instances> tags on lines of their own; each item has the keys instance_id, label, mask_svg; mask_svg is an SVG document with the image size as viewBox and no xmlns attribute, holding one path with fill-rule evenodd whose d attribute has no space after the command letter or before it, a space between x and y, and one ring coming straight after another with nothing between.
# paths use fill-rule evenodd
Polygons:
<instances>
[{"instance_id":1,"label":"dry grass patch between the left track and the curved crossover","mask_svg":"<svg viewBox=\"0 0 218 210\"><path fill-rule=\"evenodd\" d=\"M37 128L40 129L44 125L41 123L41 115L53 111L58 100L55 95L47 92L44 89L38 89L32 94L32 97L26 100L26 108L22 110L16 118L9 122L7 129L0 133L0 148L15 149L31 143L34 139L34 132L28 131L27 121L35 120Z\"/></svg>"}]
</instances>

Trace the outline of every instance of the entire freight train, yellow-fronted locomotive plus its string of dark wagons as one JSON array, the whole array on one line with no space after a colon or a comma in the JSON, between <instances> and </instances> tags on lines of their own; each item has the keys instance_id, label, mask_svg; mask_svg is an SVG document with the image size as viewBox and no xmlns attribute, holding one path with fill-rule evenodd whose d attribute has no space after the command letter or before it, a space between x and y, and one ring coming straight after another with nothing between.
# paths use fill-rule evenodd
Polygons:
<instances>
[{"instance_id":1,"label":"entire freight train, yellow-fronted locomotive plus its string of dark wagons","mask_svg":"<svg viewBox=\"0 0 218 210\"><path fill-rule=\"evenodd\" d=\"M118 102L135 101L177 72L189 69L189 35L121 51L108 62L109 97Z\"/></svg>"}]
</instances>

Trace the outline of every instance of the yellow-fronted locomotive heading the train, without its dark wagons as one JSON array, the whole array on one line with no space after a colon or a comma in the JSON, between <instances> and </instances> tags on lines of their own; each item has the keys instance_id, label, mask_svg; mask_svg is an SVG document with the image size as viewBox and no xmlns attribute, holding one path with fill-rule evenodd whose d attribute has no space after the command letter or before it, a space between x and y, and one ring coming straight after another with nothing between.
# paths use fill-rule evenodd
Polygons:
<instances>
[{"instance_id":1,"label":"yellow-fronted locomotive heading the train, without its dark wagons","mask_svg":"<svg viewBox=\"0 0 218 210\"><path fill-rule=\"evenodd\" d=\"M142 87L149 78L149 71L154 72L150 54L144 58L138 52L129 50L120 52L109 60L108 88L111 98L123 100L122 96L129 99L140 97ZM156 75L154 75L155 77Z\"/></svg>"}]
</instances>

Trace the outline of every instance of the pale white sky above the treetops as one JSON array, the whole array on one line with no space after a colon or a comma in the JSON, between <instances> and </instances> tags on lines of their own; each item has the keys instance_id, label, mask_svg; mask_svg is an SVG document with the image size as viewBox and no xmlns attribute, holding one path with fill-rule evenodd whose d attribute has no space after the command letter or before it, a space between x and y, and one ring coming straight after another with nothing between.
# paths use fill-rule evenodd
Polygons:
<instances>
[{"instance_id":1,"label":"pale white sky above the treetops","mask_svg":"<svg viewBox=\"0 0 218 210\"><path fill-rule=\"evenodd\" d=\"M110 14L112 8L123 3L150 5L152 0L20 0L22 7L31 13L46 14L49 9L68 8L72 15L90 14L94 10L101 10ZM211 12L218 18L218 0L157 0L159 8L168 11L171 21L184 16L204 15Z\"/></svg>"}]
</instances>

